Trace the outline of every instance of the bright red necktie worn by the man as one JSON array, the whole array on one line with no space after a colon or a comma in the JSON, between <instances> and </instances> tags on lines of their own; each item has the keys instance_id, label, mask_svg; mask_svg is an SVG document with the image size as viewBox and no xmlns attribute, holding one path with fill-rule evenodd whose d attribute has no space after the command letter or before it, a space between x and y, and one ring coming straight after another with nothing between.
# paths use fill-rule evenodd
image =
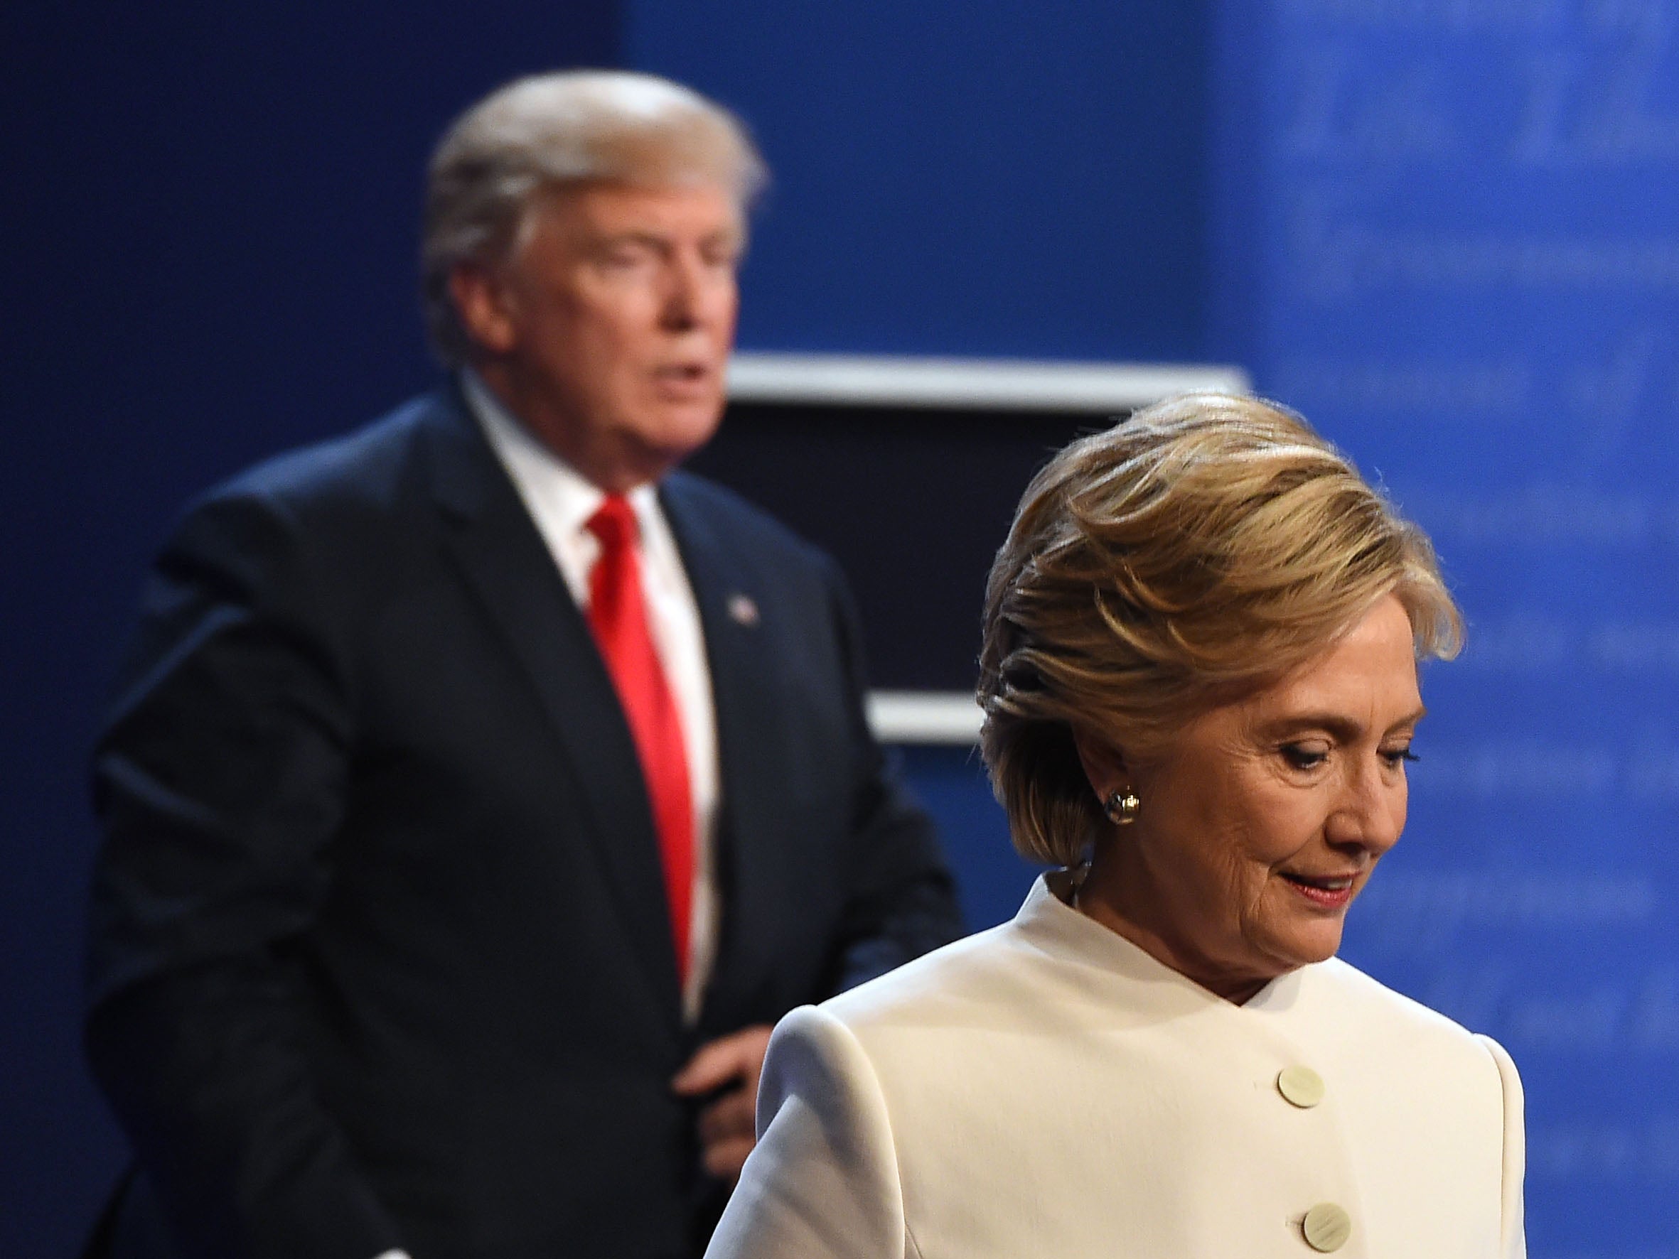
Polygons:
<instances>
[{"instance_id":1,"label":"bright red necktie worn by the man","mask_svg":"<svg viewBox=\"0 0 1679 1259\"><path fill-rule=\"evenodd\" d=\"M693 898L693 797L688 791L688 745L682 739L677 700L653 650L641 598L635 512L609 494L589 517L601 556L589 574L589 630L618 688L641 777L653 806L653 826L665 863L665 900L677 947L677 980L688 977L688 905Z\"/></svg>"}]
</instances>

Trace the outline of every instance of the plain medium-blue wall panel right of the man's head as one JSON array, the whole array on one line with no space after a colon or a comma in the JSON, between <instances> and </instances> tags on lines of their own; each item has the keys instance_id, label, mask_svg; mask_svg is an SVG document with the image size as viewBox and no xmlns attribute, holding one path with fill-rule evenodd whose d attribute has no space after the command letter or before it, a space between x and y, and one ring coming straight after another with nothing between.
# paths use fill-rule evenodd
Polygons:
<instances>
[{"instance_id":1,"label":"plain medium-blue wall panel right of the man's head","mask_svg":"<svg viewBox=\"0 0 1679 1259\"><path fill-rule=\"evenodd\" d=\"M740 111L776 171L740 344L1202 354L1209 8L625 5L625 57Z\"/></svg>"}]
</instances>

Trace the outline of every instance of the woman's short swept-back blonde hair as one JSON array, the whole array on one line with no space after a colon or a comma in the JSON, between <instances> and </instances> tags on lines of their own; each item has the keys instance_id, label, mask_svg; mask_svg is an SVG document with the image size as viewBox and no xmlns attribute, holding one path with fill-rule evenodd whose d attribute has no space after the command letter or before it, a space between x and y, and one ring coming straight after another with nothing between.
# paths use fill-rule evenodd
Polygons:
<instances>
[{"instance_id":1,"label":"woman's short swept-back blonde hair","mask_svg":"<svg viewBox=\"0 0 1679 1259\"><path fill-rule=\"evenodd\" d=\"M1293 411L1180 394L1066 447L986 588L981 749L1014 846L1073 865L1101 833L1075 729L1147 755L1385 594L1419 660L1457 653L1427 535Z\"/></svg>"}]
</instances>

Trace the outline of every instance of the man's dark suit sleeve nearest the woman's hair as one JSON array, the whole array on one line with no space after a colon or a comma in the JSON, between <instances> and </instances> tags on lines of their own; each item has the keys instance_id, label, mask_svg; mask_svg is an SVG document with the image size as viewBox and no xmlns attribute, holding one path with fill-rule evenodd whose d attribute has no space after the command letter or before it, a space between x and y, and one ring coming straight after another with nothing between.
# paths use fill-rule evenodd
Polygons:
<instances>
[{"instance_id":1,"label":"man's dark suit sleeve nearest the woman's hair","mask_svg":"<svg viewBox=\"0 0 1679 1259\"><path fill-rule=\"evenodd\" d=\"M853 787L846 908L833 990L883 975L964 933L955 885L932 818L898 781L863 708L861 630L845 579L828 561L845 653Z\"/></svg>"}]
</instances>

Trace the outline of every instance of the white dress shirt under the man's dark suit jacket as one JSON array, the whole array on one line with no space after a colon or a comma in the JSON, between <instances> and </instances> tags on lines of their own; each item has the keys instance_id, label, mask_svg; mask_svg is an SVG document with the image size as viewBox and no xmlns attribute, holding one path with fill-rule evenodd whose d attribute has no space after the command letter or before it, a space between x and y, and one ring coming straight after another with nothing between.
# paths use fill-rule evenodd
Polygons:
<instances>
[{"instance_id":1,"label":"white dress shirt under the man's dark suit jacket","mask_svg":"<svg viewBox=\"0 0 1679 1259\"><path fill-rule=\"evenodd\" d=\"M589 572L601 544L588 529L589 517L606 499L593 482L537 441L489 386L472 371L462 373L467 403L507 468L526 510L547 544L554 564L578 608L589 608ZM640 525L638 557L641 596L653 648L677 702L682 740L688 754L688 787L693 799L693 900L688 920L688 969L682 1014L692 1026L717 959L719 891L715 871L717 806L722 777L717 765L717 710L712 673L705 661L700 608L682 567L682 552L658 505L658 492L640 485L625 495Z\"/></svg>"}]
</instances>

